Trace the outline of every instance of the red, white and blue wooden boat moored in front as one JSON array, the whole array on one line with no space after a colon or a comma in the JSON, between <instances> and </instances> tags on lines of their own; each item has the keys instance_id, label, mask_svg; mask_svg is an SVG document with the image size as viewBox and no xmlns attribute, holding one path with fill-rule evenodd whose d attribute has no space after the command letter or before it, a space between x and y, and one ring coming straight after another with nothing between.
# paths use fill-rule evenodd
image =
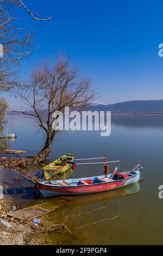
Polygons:
<instances>
[{"instance_id":1,"label":"red, white and blue wooden boat moored in front","mask_svg":"<svg viewBox=\"0 0 163 256\"><path fill-rule=\"evenodd\" d=\"M93 176L89 178L54 180L37 182L43 197L67 196L77 194L99 193L115 190L133 184L140 179L140 164L129 172L116 173L115 168L112 174Z\"/></svg>"}]
</instances>

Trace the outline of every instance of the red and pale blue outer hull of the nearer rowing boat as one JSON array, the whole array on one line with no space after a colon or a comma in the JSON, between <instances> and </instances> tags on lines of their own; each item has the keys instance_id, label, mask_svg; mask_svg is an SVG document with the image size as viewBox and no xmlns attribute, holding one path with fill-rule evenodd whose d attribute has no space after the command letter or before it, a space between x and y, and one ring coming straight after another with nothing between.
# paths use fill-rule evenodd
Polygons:
<instances>
[{"instance_id":1,"label":"red and pale blue outer hull of the nearer rowing boat","mask_svg":"<svg viewBox=\"0 0 163 256\"><path fill-rule=\"evenodd\" d=\"M103 182L91 185L78 185L78 186L56 186L51 184L44 184L43 182L37 182L43 197L56 197L56 196L68 196L77 194L91 194L99 193L109 190L115 190L120 187L124 187L133 184L140 179L140 171L130 178L123 180L116 180L112 182Z\"/></svg>"}]
</instances>

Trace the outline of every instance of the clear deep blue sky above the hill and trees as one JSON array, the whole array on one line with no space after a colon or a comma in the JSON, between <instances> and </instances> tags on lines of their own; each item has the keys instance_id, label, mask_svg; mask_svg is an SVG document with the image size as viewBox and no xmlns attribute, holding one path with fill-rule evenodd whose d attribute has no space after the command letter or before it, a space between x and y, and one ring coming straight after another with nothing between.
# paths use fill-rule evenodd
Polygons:
<instances>
[{"instance_id":1,"label":"clear deep blue sky above the hill and trees","mask_svg":"<svg viewBox=\"0 0 163 256\"><path fill-rule=\"evenodd\" d=\"M163 57L158 56L158 45L163 43L162 1L24 3L40 17L52 17L50 22L39 22L22 8L17 12L21 25L28 23L34 29L40 46L23 60L20 74L24 78L37 63L55 57L61 49L80 74L92 79L101 102L163 99Z\"/></svg>"}]
</instances>

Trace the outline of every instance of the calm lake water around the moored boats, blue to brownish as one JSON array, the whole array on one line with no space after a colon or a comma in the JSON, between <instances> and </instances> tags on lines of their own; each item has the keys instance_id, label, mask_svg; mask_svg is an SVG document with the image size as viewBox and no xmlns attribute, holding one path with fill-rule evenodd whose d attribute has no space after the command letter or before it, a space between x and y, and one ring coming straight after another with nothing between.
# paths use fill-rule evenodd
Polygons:
<instances>
[{"instance_id":1,"label":"calm lake water around the moored boats, blue to brownish","mask_svg":"<svg viewBox=\"0 0 163 256\"><path fill-rule=\"evenodd\" d=\"M30 118L8 115L8 120L8 132L17 132L17 138L15 142L4 143L10 148L30 153L42 149L45 135L31 124ZM52 212L48 215L48 222L54 224L64 220L74 236L66 231L53 231L42 236L40 243L163 244L163 199L158 197L158 187L163 185L162 134L162 115L134 115L112 116L109 137L101 137L98 131L70 131L58 135L52 145L49 161L69 151L76 158L102 157L106 154L108 161L121 160L121 171L130 170L141 163L143 181L114 192L79 196L76 205ZM114 167L110 164L110 172ZM103 174L103 166L99 164L78 166L75 170L76 177L100 174ZM12 188L31 185L23 178L15 181L11 170L6 173L0 170L1 184L7 184L8 179L12 181ZM28 192L22 192L21 196L11 194L11 198L19 206L33 199Z\"/></svg>"}]
</instances>

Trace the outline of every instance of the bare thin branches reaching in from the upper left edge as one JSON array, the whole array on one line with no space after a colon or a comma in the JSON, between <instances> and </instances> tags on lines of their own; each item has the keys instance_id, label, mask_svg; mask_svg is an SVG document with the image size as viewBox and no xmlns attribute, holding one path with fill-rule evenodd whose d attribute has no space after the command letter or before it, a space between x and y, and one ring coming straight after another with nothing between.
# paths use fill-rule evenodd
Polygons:
<instances>
[{"instance_id":1,"label":"bare thin branches reaching in from the upper left edge","mask_svg":"<svg viewBox=\"0 0 163 256\"><path fill-rule=\"evenodd\" d=\"M15 84L14 73L11 71L15 64L20 64L22 58L27 58L33 53L34 33L27 27L19 27L20 18L15 16L15 9L24 8L35 20L40 19L33 14L23 0L1 0L0 1L0 44L3 45L3 56L0 56L0 89L7 90Z\"/></svg>"}]
</instances>

